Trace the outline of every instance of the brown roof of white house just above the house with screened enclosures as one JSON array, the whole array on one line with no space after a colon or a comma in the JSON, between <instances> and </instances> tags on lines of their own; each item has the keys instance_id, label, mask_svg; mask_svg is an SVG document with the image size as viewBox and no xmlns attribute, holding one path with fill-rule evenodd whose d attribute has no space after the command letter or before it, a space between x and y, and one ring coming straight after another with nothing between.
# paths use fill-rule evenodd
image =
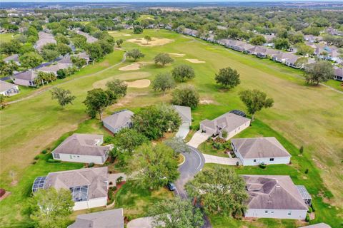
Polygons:
<instances>
[{"instance_id":1,"label":"brown roof of white house just above the house with screened enclosures","mask_svg":"<svg viewBox=\"0 0 343 228\"><path fill-rule=\"evenodd\" d=\"M104 156L111 145L101 146L103 135L73 134L66 138L54 151L57 154Z\"/></svg>"}]
</instances>

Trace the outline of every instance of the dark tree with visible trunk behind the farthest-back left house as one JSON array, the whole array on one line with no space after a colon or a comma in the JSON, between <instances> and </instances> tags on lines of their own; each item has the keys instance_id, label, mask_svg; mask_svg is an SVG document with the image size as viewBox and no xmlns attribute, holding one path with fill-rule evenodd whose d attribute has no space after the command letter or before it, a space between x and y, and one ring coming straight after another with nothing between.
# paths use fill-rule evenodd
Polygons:
<instances>
[{"instance_id":1,"label":"dark tree with visible trunk behind the farthest-back left house","mask_svg":"<svg viewBox=\"0 0 343 228\"><path fill-rule=\"evenodd\" d=\"M84 104L86 105L86 113L91 118L96 117L99 113L100 120L102 120L102 113L109 105L116 103L116 95L110 90L102 90L101 88L94 88L87 92Z\"/></svg>"}]
</instances>

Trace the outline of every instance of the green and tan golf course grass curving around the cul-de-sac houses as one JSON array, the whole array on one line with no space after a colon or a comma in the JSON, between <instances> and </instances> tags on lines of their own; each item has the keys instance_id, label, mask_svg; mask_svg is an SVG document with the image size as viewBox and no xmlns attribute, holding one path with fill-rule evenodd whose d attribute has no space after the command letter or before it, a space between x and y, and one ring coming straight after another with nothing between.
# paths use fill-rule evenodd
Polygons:
<instances>
[{"instance_id":1,"label":"green and tan golf course grass curving around the cul-de-sac houses","mask_svg":"<svg viewBox=\"0 0 343 228\"><path fill-rule=\"evenodd\" d=\"M307 162L311 160L313 172L317 173L315 177L317 180L312 180L314 177L311 177L307 182L320 182L318 183L318 187L319 184L320 187L316 187L317 190L324 190L330 203L342 207L342 94L324 86L306 86L301 76L302 73L298 70L266 59L246 56L177 33L162 30L144 30L144 33L140 35L131 33L131 36L123 36L125 33L131 33L131 31L121 31L113 33L113 35L116 38L123 39L141 38L149 35L173 40L172 43L152 48L124 42L124 49L139 48L146 55L140 60L146 64L141 69L132 71L136 73L137 78L130 78L131 80L141 78L144 72L149 73L146 74L146 78L151 80L156 76L156 73L171 71L173 66L180 63L186 63L194 67L197 76L190 83L194 84L199 90L201 100L206 100L208 103L207 105L199 105L197 109L193 110L193 125L195 126L199 125L199 121L204 118L212 119L234 108L245 110L243 103L237 96L240 90L258 88L274 98L274 107L257 113L259 121L255 123L271 126L277 133L292 142L295 147L304 145L304 156L306 156L304 158L306 158ZM185 56L174 57L175 62L172 66L161 68L154 66L152 63L156 53L160 52L182 53ZM118 68L129 65L130 60L107 71L101 71L113 66L115 63L119 63L122 55L122 51L116 50L106 56L100 63L87 66L79 73L76 73L75 76L64 80L68 82L60 87L68 88L71 93L76 95L74 105L61 109L56 101L51 101L51 95L46 91L29 100L9 105L0 111L1 186L9 187L11 182L9 172L11 170L16 172L16 179L19 180L19 183L25 181L26 169L33 166L30 165L33 157L47 145L50 145L51 142L60 138L61 135L75 130L78 128L79 123L86 120L87 117L82 103L86 91L94 88L96 82L112 77L122 78L124 73L128 73L119 71ZM190 63L186 61L186 58L199 59L199 61L205 61L206 63ZM232 90L221 90L214 83L214 73L219 68L227 66L239 71L242 83ZM101 73L94 75L99 71ZM81 78L85 75L89 75L89 77ZM56 81L52 84L56 85L64 81ZM169 102L169 100L170 93L164 96L161 93L153 92L151 88L129 88L126 97L119 100L118 104L108 108L106 114L108 115L111 111L119 108L130 108L135 111L144 105ZM258 131L257 134L259 134ZM294 164L294 169L304 170L303 164L305 163L299 162L299 167ZM294 176L296 174L297 172L294 172ZM334 195L331 199L329 199L330 192ZM0 202L1 204L3 202ZM1 214L2 216L5 216L5 214Z\"/></svg>"}]
</instances>

